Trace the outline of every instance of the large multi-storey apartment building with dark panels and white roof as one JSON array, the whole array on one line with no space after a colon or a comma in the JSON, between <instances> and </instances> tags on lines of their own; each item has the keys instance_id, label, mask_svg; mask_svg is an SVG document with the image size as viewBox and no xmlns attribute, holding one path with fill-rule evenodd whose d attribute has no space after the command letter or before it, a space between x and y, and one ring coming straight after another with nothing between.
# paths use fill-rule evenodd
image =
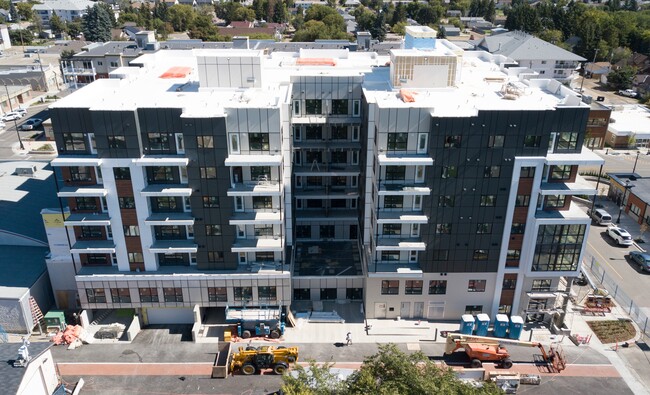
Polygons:
<instances>
[{"instance_id":1,"label":"large multi-storey apartment building with dark panels and white roof","mask_svg":"<svg viewBox=\"0 0 650 395\"><path fill-rule=\"evenodd\" d=\"M410 27L390 56L160 51L54 104L84 308L363 301L368 318L555 312L589 230L589 107ZM560 294L561 294L560 290Z\"/></svg>"}]
</instances>

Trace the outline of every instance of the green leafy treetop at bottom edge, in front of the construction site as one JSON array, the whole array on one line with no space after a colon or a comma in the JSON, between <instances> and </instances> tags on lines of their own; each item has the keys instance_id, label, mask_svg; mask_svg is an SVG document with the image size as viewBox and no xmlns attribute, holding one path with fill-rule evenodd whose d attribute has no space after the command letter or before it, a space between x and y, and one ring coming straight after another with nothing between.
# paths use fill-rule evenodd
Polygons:
<instances>
[{"instance_id":1,"label":"green leafy treetop at bottom edge, in front of the construction site","mask_svg":"<svg viewBox=\"0 0 650 395\"><path fill-rule=\"evenodd\" d=\"M501 394L493 383L474 388L422 352L407 354L395 344L380 345L379 351L367 357L361 368L345 381L330 373L331 366L312 361L308 370L297 367L297 377L283 376L282 390L287 395Z\"/></svg>"}]
</instances>

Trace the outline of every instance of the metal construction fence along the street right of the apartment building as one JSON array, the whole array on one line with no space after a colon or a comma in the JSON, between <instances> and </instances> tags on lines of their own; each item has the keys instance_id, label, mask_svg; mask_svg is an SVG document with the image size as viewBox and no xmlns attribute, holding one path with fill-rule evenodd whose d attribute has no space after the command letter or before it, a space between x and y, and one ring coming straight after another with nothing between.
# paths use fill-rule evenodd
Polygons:
<instances>
[{"instance_id":1,"label":"metal construction fence along the street right of the apartment building","mask_svg":"<svg viewBox=\"0 0 650 395\"><path fill-rule=\"evenodd\" d=\"M619 307L638 325L643 336L650 337L650 333L648 332L650 331L650 327L648 327L648 316L641 311L639 305L637 305L632 298L623 292L616 281L605 273L605 270L600 266L593 255L585 253L582 268L588 272L587 274L591 277L598 288L604 288L609 291L609 295L614 298Z\"/></svg>"}]
</instances>

